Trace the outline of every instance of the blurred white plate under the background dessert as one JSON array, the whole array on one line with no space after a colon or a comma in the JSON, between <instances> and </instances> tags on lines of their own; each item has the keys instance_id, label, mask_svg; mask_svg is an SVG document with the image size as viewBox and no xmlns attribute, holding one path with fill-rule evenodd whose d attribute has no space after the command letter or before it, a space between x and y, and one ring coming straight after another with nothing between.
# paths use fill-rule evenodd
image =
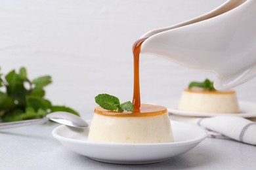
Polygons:
<instances>
[{"instance_id":1,"label":"blurred white plate under the background dessert","mask_svg":"<svg viewBox=\"0 0 256 170\"><path fill-rule=\"evenodd\" d=\"M256 117L256 103L251 101L239 101L240 113L209 113L209 112L192 112L177 109L179 101L169 100L169 101L159 101L155 103L157 105L163 105L167 107L167 110L171 114L177 114L180 116L198 116L198 117L209 117L209 116L241 116L244 118Z\"/></svg>"}]
</instances>

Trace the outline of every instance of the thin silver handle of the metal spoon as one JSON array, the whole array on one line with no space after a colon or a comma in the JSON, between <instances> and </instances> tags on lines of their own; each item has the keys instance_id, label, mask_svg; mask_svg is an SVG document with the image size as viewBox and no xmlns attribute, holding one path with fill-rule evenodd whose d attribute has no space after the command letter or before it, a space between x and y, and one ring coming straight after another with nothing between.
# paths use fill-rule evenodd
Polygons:
<instances>
[{"instance_id":1,"label":"thin silver handle of the metal spoon","mask_svg":"<svg viewBox=\"0 0 256 170\"><path fill-rule=\"evenodd\" d=\"M0 123L0 130L1 129L9 129L14 127L21 127L21 126L30 126L35 124L43 124L47 122L49 118L39 118L39 119L32 119L32 120L22 120L16 122L7 122L7 123Z\"/></svg>"}]
</instances>

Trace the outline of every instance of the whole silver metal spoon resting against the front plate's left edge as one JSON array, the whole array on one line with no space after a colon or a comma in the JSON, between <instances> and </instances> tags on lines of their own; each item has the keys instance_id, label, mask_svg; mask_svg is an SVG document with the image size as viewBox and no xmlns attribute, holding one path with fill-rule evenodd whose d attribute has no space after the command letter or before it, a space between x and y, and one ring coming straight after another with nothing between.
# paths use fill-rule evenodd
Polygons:
<instances>
[{"instance_id":1,"label":"whole silver metal spoon resting against the front plate's left edge","mask_svg":"<svg viewBox=\"0 0 256 170\"><path fill-rule=\"evenodd\" d=\"M71 114L69 112L52 112L40 119L0 123L0 130L9 129L13 127L30 126L34 124L43 124L48 120L53 120L54 122L57 122L59 124L64 124L66 126L71 126L80 129L88 127L87 122L85 122L83 119L81 119L79 116L76 116L75 114Z\"/></svg>"}]
</instances>

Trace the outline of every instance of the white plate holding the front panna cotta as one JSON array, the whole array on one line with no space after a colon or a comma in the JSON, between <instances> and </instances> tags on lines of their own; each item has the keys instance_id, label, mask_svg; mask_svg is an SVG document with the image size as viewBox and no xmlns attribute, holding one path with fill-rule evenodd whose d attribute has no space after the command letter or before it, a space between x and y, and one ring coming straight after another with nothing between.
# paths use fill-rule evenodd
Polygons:
<instances>
[{"instance_id":1,"label":"white plate holding the front panna cotta","mask_svg":"<svg viewBox=\"0 0 256 170\"><path fill-rule=\"evenodd\" d=\"M89 122L89 121L87 121ZM74 131L67 126L53 129L55 137L66 148L92 160L119 164L144 164L165 161L191 150L206 137L199 126L171 121L173 143L123 144L88 141L89 129Z\"/></svg>"}]
</instances>

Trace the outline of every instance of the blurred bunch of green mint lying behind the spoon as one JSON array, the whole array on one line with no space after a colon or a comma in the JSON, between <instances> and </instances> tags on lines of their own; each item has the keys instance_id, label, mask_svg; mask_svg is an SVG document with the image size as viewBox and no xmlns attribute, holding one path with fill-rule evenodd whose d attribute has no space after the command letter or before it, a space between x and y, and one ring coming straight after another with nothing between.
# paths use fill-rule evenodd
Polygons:
<instances>
[{"instance_id":1,"label":"blurred bunch of green mint lying behind the spoon","mask_svg":"<svg viewBox=\"0 0 256 170\"><path fill-rule=\"evenodd\" d=\"M69 107L56 106L45 99L44 88L51 82L51 76L30 80L24 67L5 76L0 73L0 122L42 118L55 111L79 115Z\"/></svg>"}]
</instances>

